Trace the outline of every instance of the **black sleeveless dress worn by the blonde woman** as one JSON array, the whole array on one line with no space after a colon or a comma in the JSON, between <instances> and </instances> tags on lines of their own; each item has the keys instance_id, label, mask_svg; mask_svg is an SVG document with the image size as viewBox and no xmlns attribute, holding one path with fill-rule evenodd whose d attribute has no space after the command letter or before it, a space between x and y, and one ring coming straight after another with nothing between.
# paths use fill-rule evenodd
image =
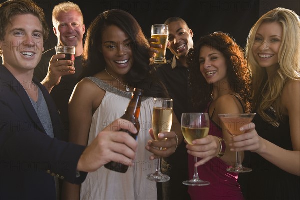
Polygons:
<instances>
[{"instance_id":1,"label":"black sleeveless dress worn by the blonde woman","mask_svg":"<svg viewBox=\"0 0 300 200\"><path fill-rule=\"evenodd\" d=\"M275 117L274 109L270 108L268 115ZM259 136L284 149L292 150L288 118L270 123L256 114L253 122ZM245 151L243 165L253 169L249 173L239 173L238 177L247 200L300 200L299 176L281 170L250 151Z\"/></svg>"}]
</instances>

